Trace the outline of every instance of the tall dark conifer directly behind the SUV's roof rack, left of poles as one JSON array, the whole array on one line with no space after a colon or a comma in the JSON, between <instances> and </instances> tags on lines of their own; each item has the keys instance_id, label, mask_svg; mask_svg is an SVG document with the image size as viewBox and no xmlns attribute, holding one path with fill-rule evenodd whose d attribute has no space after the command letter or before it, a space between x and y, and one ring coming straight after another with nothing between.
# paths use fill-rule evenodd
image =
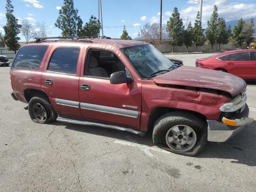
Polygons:
<instances>
[{"instance_id":1,"label":"tall dark conifer directly behind the SUV's roof rack, left of poles","mask_svg":"<svg viewBox=\"0 0 256 192\"><path fill-rule=\"evenodd\" d=\"M62 30L62 36L77 36L82 31L82 24L73 0L64 0L64 6L59 10L55 23L55 26Z\"/></svg>"}]
</instances>

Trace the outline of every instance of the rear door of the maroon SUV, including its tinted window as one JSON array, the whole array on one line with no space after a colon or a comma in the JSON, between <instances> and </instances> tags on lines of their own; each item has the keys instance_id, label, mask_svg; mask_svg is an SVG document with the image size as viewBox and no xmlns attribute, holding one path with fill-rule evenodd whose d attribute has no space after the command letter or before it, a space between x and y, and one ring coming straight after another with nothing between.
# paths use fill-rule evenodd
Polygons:
<instances>
[{"instance_id":1,"label":"rear door of the maroon SUV, including its tinted window","mask_svg":"<svg viewBox=\"0 0 256 192\"><path fill-rule=\"evenodd\" d=\"M52 48L41 77L42 90L58 114L81 116L78 83L83 47Z\"/></svg>"}]
</instances>

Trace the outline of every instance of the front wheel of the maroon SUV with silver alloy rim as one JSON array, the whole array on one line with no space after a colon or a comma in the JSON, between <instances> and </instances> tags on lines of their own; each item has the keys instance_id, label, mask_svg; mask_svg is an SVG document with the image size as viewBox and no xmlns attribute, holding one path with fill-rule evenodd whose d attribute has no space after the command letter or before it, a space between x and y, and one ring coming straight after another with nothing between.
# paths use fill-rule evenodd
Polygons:
<instances>
[{"instance_id":1,"label":"front wheel of the maroon SUV with silver alloy rim","mask_svg":"<svg viewBox=\"0 0 256 192\"><path fill-rule=\"evenodd\" d=\"M188 112L169 112L156 121L153 142L172 153L195 156L207 144L207 124Z\"/></svg>"}]
</instances>

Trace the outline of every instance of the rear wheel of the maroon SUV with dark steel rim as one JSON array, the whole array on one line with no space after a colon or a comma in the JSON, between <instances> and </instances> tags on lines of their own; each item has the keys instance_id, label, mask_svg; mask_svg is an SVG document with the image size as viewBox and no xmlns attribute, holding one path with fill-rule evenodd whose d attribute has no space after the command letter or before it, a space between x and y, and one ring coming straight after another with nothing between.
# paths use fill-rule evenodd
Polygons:
<instances>
[{"instance_id":1,"label":"rear wheel of the maroon SUV with dark steel rim","mask_svg":"<svg viewBox=\"0 0 256 192\"><path fill-rule=\"evenodd\" d=\"M32 121L41 124L55 121L58 116L48 98L44 97L32 97L28 103L28 113Z\"/></svg>"}]
</instances>

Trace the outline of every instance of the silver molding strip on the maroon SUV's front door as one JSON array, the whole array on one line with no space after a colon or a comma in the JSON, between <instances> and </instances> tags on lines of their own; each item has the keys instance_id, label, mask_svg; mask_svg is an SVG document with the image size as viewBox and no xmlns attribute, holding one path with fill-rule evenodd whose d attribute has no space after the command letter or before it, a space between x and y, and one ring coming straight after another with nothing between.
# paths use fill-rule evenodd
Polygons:
<instances>
[{"instance_id":1,"label":"silver molding strip on the maroon SUV's front door","mask_svg":"<svg viewBox=\"0 0 256 192\"><path fill-rule=\"evenodd\" d=\"M122 116L127 116L127 117L133 117L133 118L138 118L138 115L139 115L138 111L115 108L115 107L108 107L108 106L102 106L102 105L95 105L95 104L89 104L89 103L80 103L80 108L86 109L86 110L103 112L103 113L110 113L110 114L122 115Z\"/></svg>"}]
</instances>

